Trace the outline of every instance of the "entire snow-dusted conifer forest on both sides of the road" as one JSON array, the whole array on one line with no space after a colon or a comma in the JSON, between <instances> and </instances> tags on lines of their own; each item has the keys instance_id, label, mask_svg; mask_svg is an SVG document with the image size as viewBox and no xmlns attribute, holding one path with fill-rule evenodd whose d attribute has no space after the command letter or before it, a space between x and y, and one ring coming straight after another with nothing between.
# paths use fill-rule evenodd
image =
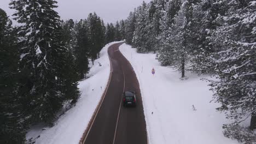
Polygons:
<instances>
[{"instance_id":1,"label":"entire snow-dusted conifer forest on both sides of the road","mask_svg":"<svg viewBox=\"0 0 256 144\"><path fill-rule=\"evenodd\" d=\"M78 82L88 78L89 63L121 40L138 53L156 53L181 80L188 72L211 75L214 80L205 81L212 103L232 121L223 123L224 136L256 142L256 1L152 0L115 23L96 13L61 20L55 0L9 5L13 20L0 8L0 143L26 143L33 124L51 127L79 100Z\"/></svg>"}]
</instances>

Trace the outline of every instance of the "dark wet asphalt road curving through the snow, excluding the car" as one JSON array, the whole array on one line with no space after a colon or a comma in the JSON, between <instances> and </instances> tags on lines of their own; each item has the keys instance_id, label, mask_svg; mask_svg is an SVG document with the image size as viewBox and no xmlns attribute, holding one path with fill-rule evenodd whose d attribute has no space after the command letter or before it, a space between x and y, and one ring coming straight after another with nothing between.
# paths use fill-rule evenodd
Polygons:
<instances>
[{"instance_id":1,"label":"dark wet asphalt road curving through the snow, excluding the car","mask_svg":"<svg viewBox=\"0 0 256 144\"><path fill-rule=\"evenodd\" d=\"M148 143L139 83L131 64L119 51L121 44L108 48L112 67L110 81L103 101L83 137L84 144ZM124 91L135 91L136 107L123 106L121 95Z\"/></svg>"}]
</instances>

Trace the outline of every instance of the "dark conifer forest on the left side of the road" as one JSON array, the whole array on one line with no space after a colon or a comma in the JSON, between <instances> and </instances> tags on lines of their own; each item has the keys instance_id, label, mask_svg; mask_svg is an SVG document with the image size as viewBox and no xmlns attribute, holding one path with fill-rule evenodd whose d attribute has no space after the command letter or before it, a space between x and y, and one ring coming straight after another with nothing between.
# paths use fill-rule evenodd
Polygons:
<instances>
[{"instance_id":1,"label":"dark conifer forest on the left side of the road","mask_svg":"<svg viewBox=\"0 0 256 144\"><path fill-rule=\"evenodd\" d=\"M105 44L124 39L124 21L105 25L96 13L62 21L56 4L12 0L21 23L15 27L0 9L0 143L25 143L33 124L52 125L64 104L79 99L89 61L94 64Z\"/></svg>"}]
</instances>

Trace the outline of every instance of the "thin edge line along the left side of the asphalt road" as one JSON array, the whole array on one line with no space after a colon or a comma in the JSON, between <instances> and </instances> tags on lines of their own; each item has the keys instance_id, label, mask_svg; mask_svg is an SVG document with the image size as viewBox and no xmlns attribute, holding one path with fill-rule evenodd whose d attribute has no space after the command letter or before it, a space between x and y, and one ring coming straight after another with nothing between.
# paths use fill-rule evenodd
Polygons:
<instances>
[{"instance_id":1,"label":"thin edge line along the left side of the asphalt road","mask_svg":"<svg viewBox=\"0 0 256 144\"><path fill-rule=\"evenodd\" d=\"M117 44L118 44L118 43L117 43ZM114 45L114 44L110 45L109 47L111 47L111 46L113 46L113 45ZM109 49L109 47L108 47L108 49ZM107 53L108 53L108 49L107 49ZM98 111L100 110L100 107L101 107L101 105L102 105L102 103L103 103L103 100L104 100L104 98L105 98L105 96L106 96L106 93L107 93L107 90L108 90L108 87L109 87L109 84L110 84L110 81L111 81L111 77L112 77L112 62L111 62L111 59L110 59L110 57L109 57L109 53L108 53L108 59L109 59L109 62L110 62L110 73L109 73L109 76L108 76L108 84L107 84L107 87L104 89L104 93L103 93L103 95L102 95L102 97L101 97L101 100L99 101L99 103L98 103L98 105L97 105L97 107L96 107L96 109L95 109L95 111L94 111L94 114L92 115L92 117L91 117L91 119L90 119L90 121L89 121L89 123L88 123L88 126L87 126L87 128L85 129L84 134L83 134L82 138L81 138L80 141L79 141L79 144L84 144L84 142L86 141L86 138L88 137L88 135L89 135L89 133L90 133L91 127L92 127L92 125L94 124L94 121L95 121L95 119L96 119L96 116L97 116L97 114L98 114Z\"/></svg>"}]
</instances>

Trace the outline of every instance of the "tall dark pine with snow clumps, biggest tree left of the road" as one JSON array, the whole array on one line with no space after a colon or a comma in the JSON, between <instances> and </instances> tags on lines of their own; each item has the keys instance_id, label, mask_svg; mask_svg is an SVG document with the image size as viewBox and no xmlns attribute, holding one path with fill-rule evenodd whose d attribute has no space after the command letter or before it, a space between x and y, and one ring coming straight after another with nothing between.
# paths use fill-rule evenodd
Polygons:
<instances>
[{"instance_id":1,"label":"tall dark pine with snow clumps, biggest tree left of the road","mask_svg":"<svg viewBox=\"0 0 256 144\"><path fill-rule=\"evenodd\" d=\"M19 95L29 123L51 123L62 107L62 59L67 52L62 46L60 16L54 10L57 2L12 0L15 19L24 23L21 31L19 62Z\"/></svg>"}]
</instances>

